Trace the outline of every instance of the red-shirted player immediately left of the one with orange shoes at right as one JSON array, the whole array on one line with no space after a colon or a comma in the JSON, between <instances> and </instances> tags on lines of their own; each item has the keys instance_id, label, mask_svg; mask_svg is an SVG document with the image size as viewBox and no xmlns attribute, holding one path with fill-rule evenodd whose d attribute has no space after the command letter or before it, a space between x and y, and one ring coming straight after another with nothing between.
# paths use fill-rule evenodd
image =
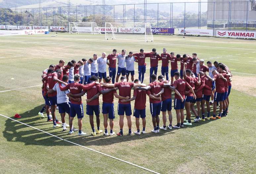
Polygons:
<instances>
[{"instance_id":1,"label":"red-shirted player immediately left of the one with orange shoes at right","mask_svg":"<svg viewBox=\"0 0 256 174\"><path fill-rule=\"evenodd\" d=\"M210 119L210 98L212 94L212 82L203 74L202 71L199 72L200 77L203 78L204 80L204 87L203 87L203 95L202 95L202 100L201 100L201 108L202 108L202 118L201 121L205 121L205 118L207 120ZM207 107L207 116L205 117L205 106L204 104L206 103Z\"/></svg>"}]
</instances>

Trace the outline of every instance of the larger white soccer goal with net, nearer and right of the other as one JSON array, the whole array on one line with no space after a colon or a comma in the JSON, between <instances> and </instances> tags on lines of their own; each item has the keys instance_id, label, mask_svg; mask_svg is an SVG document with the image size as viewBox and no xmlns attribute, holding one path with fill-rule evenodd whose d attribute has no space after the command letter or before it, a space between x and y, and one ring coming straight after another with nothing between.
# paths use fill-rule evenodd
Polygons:
<instances>
[{"instance_id":1,"label":"larger white soccer goal with net, nearer and right of the other","mask_svg":"<svg viewBox=\"0 0 256 174\"><path fill-rule=\"evenodd\" d=\"M105 23L106 39L132 39L153 41L150 23Z\"/></svg>"}]
</instances>

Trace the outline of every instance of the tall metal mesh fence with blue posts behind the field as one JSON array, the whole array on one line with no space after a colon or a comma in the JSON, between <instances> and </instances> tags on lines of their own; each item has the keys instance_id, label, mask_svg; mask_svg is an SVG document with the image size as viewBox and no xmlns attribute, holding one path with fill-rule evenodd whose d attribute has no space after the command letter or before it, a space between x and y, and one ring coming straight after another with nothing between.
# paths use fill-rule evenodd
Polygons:
<instances>
[{"instance_id":1,"label":"tall metal mesh fence with blue posts behind the field","mask_svg":"<svg viewBox=\"0 0 256 174\"><path fill-rule=\"evenodd\" d=\"M0 25L150 22L151 27L256 30L255 2L183 2L0 9ZM255 4L256 5L256 4Z\"/></svg>"}]
</instances>

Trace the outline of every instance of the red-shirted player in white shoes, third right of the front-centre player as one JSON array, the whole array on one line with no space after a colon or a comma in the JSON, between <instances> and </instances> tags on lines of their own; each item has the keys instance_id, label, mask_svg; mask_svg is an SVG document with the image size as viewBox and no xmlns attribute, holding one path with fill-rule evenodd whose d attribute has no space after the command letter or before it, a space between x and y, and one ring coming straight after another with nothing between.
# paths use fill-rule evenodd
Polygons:
<instances>
[{"instance_id":1,"label":"red-shirted player in white shoes, third right of the front-centre player","mask_svg":"<svg viewBox=\"0 0 256 174\"><path fill-rule=\"evenodd\" d=\"M168 83L168 81L165 81L164 76L160 75L158 76L159 82ZM163 127L160 127L162 130L167 130L166 128L166 111L168 112L169 116L169 126L167 126L169 129L172 129L172 90L174 88L169 86L164 88L164 92L161 94L161 111L163 114ZM175 89L175 93L179 95L181 98L181 94Z\"/></svg>"}]
</instances>

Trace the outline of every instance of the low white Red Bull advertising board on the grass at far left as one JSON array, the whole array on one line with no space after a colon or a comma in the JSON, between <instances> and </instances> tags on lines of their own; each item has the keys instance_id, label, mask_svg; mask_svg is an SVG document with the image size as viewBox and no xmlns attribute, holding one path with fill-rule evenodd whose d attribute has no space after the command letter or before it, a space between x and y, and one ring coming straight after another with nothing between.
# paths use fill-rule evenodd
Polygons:
<instances>
[{"instance_id":1,"label":"low white Red Bull advertising board on the grass at far left","mask_svg":"<svg viewBox=\"0 0 256 174\"><path fill-rule=\"evenodd\" d=\"M0 36L17 36L17 35L40 35L45 34L48 29L42 30L1 30Z\"/></svg>"}]
</instances>

